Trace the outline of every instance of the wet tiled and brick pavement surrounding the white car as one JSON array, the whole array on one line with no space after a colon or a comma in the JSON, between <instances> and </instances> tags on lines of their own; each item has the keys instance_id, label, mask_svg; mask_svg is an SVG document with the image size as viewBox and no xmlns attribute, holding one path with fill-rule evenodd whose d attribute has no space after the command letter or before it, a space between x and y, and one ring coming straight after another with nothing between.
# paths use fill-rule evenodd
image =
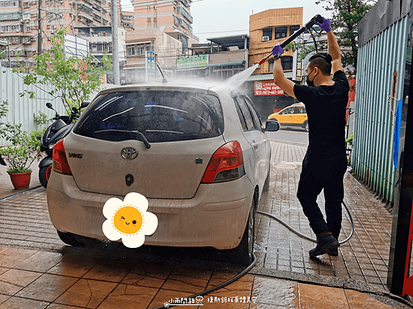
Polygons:
<instances>
[{"instance_id":1,"label":"wet tiled and brick pavement surrounding the white car","mask_svg":"<svg viewBox=\"0 0 413 309\"><path fill-rule=\"evenodd\" d=\"M315 237L295 192L306 146L272 141L270 190L258 210ZM34 167L36 169L36 167ZM242 268L210 262L205 249L127 249L98 242L65 245L47 213L46 194L33 172L33 190L17 193L0 167L1 308L156 308L234 277ZM386 286L392 216L350 174L345 202L355 232L339 256L310 260L315 244L279 222L256 215L257 263L237 281L187 299L195 308L410 308ZM323 203L323 196L319 202ZM340 240L350 233L343 218Z\"/></svg>"}]
</instances>

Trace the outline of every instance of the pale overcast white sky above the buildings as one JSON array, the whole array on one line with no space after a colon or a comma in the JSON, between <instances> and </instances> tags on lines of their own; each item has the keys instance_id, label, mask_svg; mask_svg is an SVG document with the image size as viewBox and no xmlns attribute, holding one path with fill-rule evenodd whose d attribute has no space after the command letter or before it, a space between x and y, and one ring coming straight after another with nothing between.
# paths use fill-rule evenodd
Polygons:
<instances>
[{"instance_id":1,"label":"pale overcast white sky above the buildings","mask_svg":"<svg viewBox=\"0 0 413 309\"><path fill-rule=\"evenodd\" d=\"M131 8L130 0L120 2L124 9ZM198 36L200 43L207 42L207 38L248 34L251 14L274 8L297 7L304 8L304 24L317 14L327 18L331 16L324 10L323 5L315 4L314 0L193 0L193 34Z\"/></svg>"}]
</instances>

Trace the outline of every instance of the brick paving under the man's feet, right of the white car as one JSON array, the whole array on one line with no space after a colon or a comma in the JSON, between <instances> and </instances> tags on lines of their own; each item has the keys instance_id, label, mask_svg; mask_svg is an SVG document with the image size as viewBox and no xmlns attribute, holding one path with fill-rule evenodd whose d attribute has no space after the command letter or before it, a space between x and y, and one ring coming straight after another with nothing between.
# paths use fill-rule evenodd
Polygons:
<instances>
[{"instance_id":1,"label":"brick paving under the man's feet, right of the white car","mask_svg":"<svg viewBox=\"0 0 413 309\"><path fill-rule=\"evenodd\" d=\"M296 197L301 160L306 147L273 143L270 190L258 210L273 214L305 235L315 238ZM350 207L355 232L339 247L338 257L323 255L326 264L310 260L308 251L315 244L288 231L279 222L261 216L256 244L257 256L264 268L310 275L328 275L355 279L388 290L386 286L392 216L365 187L347 173L345 203ZM324 212L324 195L317 203ZM325 212L324 212L325 214ZM257 215L260 216L260 215ZM268 228L269 226L269 228ZM343 215L344 240L351 231L348 214Z\"/></svg>"}]
</instances>

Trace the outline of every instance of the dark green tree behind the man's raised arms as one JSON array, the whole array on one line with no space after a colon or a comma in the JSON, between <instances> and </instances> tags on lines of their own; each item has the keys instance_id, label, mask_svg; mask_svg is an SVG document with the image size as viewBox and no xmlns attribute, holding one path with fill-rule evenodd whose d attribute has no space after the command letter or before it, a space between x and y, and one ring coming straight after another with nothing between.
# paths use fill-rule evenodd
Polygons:
<instances>
[{"instance_id":1,"label":"dark green tree behind the man's raised arms","mask_svg":"<svg viewBox=\"0 0 413 309\"><path fill-rule=\"evenodd\" d=\"M343 67L352 65L357 69L357 36L359 21L372 8L362 0L318 0L316 4L324 4L323 8L332 13L330 19L332 30L341 47Z\"/></svg>"}]
</instances>

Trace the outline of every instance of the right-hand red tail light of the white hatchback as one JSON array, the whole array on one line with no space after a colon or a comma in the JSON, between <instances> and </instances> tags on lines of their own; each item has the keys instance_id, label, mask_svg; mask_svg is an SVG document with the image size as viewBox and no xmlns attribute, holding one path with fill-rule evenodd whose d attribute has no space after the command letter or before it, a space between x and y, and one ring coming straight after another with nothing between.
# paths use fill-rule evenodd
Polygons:
<instances>
[{"instance_id":1,"label":"right-hand red tail light of the white hatchback","mask_svg":"<svg viewBox=\"0 0 413 309\"><path fill-rule=\"evenodd\" d=\"M241 145L237 141L231 141L214 152L201 182L231 181L244 176L244 174Z\"/></svg>"}]
</instances>

